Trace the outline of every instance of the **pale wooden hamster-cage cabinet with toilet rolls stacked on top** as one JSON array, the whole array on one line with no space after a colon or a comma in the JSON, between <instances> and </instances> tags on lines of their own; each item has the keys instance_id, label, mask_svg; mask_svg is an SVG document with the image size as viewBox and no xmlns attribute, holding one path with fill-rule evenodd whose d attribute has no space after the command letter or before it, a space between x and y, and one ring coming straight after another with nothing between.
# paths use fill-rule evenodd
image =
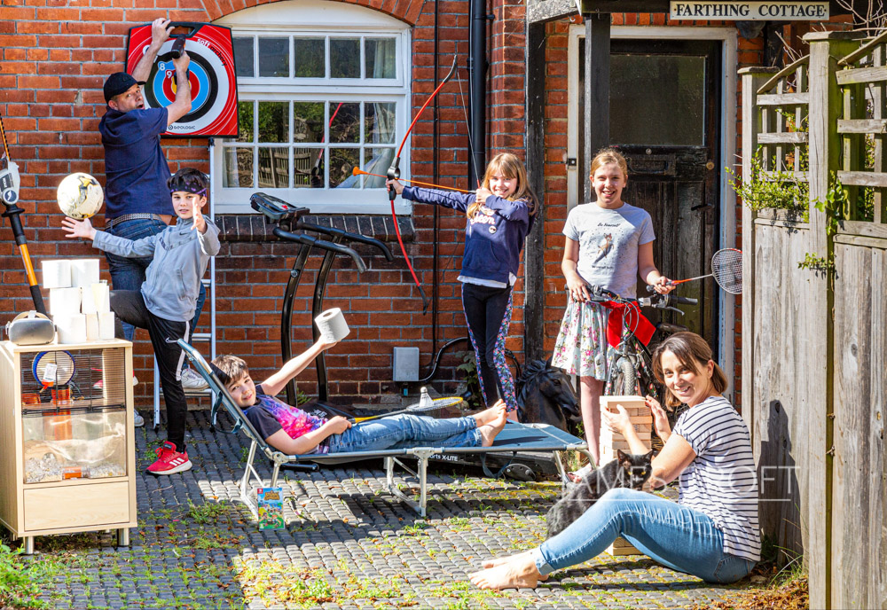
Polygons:
<instances>
[{"instance_id":1,"label":"pale wooden hamster-cage cabinet with toilet rolls stacked on top","mask_svg":"<svg viewBox=\"0 0 887 610\"><path fill-rule=\"evenodd\" d=\"M0 343L0 523L24 538L136 527L132 344Z\"/></svg>"}]
</instances>

